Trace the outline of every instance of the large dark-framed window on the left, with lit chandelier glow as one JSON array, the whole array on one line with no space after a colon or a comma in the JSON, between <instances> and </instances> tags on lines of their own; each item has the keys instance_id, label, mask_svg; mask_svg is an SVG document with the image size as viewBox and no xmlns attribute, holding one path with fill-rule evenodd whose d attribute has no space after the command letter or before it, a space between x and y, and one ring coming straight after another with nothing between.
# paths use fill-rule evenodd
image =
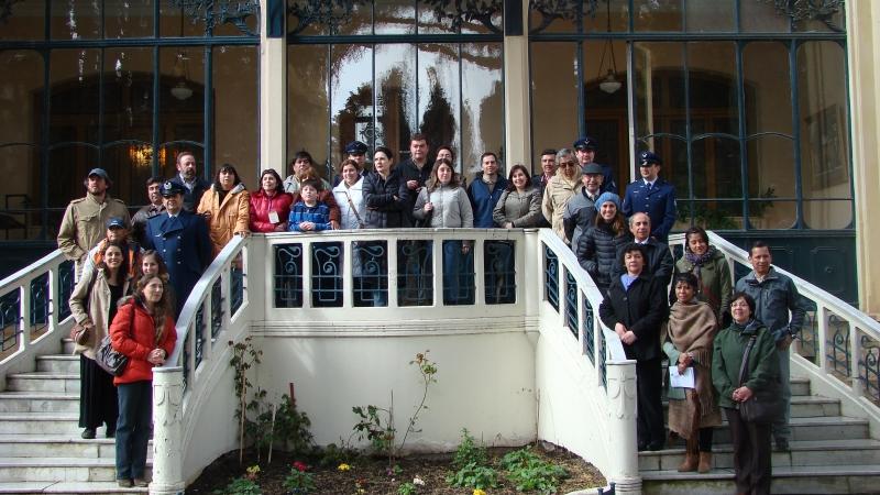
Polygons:
<instances>
[{"instance_id":1,"label":"large dark-framed window on the left, with lit chandelier glow","mask_svg":"<svg viewBox=\"0 0 880 495\"><path fill-rule=\"evenodd\" d=\"M103 167L110 194L146 201L195 152L211 177L257 172L258 1L7 2L0 9L0 229L54 239L67 202ZM194 7L195 6L195 7Z\"/></svg>"}]
</instances>

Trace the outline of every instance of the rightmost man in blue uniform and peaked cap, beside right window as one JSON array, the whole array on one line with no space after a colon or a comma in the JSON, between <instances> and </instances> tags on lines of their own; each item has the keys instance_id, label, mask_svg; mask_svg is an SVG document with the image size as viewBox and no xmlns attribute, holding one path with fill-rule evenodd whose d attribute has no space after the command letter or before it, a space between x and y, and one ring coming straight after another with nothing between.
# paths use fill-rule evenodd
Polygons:
<instances>
[{"instance_id":1,"label":"rightmost man in blue uniform and peaked cap, beside right window","mask_svg":"<svg viewBox=\"0 0 880 495\"><path fill-rule=\"evenodd\" d=\"M626 187L622 209L627 217L639 211L648 213L653 238L666 244L675 223L675 187L659 177L662 166L659 156L644 151L638 162L641 178Z\"/></svg>"}]
</instances>

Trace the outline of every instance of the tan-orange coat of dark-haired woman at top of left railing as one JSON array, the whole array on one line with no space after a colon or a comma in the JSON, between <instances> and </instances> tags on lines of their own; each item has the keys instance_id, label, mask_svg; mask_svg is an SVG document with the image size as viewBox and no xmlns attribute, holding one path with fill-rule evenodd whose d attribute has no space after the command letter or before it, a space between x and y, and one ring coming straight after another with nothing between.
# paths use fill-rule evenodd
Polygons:
<instances>
[{"instance_id":1,"label":"tan-orange coat of dark-haired woman at top of left railing","mask_svg":"<svg viewBox=\"0 0 880 495\"><path fill-rule=\"evenodd\" d=\"M239 232L250 232L251 194L244 189L244 184L233 187L220 204L220 194L215 190L216 185L201 195L199 213L211 213L208 230L213 244L213 255L217 256L223 246Z\"/></svg>"}]
</instances>

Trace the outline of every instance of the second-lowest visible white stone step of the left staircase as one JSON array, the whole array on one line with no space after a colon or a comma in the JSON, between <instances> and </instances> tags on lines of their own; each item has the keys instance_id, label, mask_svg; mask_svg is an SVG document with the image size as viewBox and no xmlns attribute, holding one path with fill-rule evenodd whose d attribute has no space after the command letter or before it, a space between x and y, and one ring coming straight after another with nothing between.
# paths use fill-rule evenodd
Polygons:
<instances>
[{"instance_id":1,"label":"second-lowest visible white stone step of the left staircase","mask_svg":"<svg viewBox=\"0 0 880 495\"><path fill-rule=\"evenodd\" d=\"M147 477L152 462L147 460ZM0 458L3 482L114 482L113 458Z\"/></svg>"}]
</instances>

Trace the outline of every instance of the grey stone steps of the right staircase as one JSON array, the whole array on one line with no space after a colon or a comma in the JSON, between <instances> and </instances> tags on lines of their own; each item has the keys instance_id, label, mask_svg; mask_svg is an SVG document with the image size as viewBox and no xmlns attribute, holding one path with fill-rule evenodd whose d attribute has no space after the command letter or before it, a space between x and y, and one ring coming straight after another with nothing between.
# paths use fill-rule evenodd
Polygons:
<instances>
[{"instance_id":1,"label":"grey stone steps of the right staircase","mask_svg":"<svg viewBox=\"0 0 880 495\"><path fill-rule=\"evenodd\" d=\"M789 452L773 451L774 494L880 493L880 441L868 421L840 416L838 400L810 395L810 382L792 378L792 441ZM730 494L733 446L727 425L715 429L713 470L679 473L683 443L640 452L645 494Z\"/></svg>"}]
</instances>

